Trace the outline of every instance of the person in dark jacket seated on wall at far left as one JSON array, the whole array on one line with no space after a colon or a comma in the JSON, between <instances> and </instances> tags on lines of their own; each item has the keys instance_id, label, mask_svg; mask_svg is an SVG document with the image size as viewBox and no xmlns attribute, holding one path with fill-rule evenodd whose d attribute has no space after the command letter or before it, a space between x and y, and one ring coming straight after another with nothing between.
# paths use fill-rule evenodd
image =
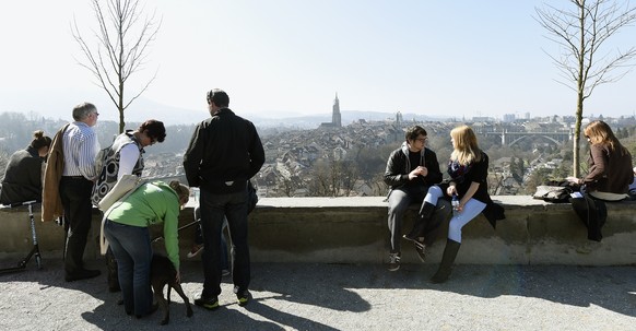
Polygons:
<instances>
[{"instance_id":1,"label":"person in dark jacket seated on wall at far left","mask_svg":"<svg viewBox=\"0 0 636 331\"><path fill-rule=\"evenodd\" d=\"M2 179L0 203L42 201L42 166L50 143L51 139L38 130L33 132L33 141L25 150L11 155Z\"/></svg>"}]
</instances>

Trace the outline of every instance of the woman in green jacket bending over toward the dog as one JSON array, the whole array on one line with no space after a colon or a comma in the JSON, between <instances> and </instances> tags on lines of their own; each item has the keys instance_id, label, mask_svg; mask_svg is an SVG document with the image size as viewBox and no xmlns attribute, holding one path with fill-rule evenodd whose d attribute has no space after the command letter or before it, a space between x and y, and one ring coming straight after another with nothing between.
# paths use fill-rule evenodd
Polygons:
<instances>
[{"instance_id":1,"label":"woman in green jacket bending over toward the dog","mask_svg":"<svg viewBox=\"0 0 636 331\"><path fill-rule=\"evenodd\" d=\"M179 273L178 218L190 190L179 181L146 182L106 211L104 235L117 259L126 314L138 318L152 314L150 269L152 247L149 226L163 222L168 259Z\"/></svg>"}]
</instances>

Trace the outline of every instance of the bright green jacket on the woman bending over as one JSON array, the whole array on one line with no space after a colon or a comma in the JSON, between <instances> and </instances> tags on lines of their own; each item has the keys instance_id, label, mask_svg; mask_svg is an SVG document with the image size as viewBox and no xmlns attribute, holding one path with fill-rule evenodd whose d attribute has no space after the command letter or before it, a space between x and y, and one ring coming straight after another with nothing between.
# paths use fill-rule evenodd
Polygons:
<instances>
[{"instance_id":1,"label":"bright green jacket on the woman bending over","mask_svg":"<svg viewBox=\"0 0 636 331\"><path fill-rule=\"evenodd\" d=\"M164 223L168 259L179 270L179 196L163 181L146 182L121 202L115 202L106 217L130 226Z\"/></svg>"}]
</instances>

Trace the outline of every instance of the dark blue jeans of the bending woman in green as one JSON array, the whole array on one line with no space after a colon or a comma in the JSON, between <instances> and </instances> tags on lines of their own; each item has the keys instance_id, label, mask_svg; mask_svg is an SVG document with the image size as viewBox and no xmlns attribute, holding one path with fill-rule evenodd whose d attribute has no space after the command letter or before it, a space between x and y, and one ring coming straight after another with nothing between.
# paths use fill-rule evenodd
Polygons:
<instances>
[{"instance_id":1,"label":"dark blue jeans of the bending woman in green","mask_svg":"<svg viewBox=\"0 0 636 331\"><path fill-rule=\"evenodd\" d=\"M119 286L126 314L148 315L152 307L150 285L152 247L148 227L130 226L106 220L104 235L117 259Z\"/></svg>"}]
</instances>

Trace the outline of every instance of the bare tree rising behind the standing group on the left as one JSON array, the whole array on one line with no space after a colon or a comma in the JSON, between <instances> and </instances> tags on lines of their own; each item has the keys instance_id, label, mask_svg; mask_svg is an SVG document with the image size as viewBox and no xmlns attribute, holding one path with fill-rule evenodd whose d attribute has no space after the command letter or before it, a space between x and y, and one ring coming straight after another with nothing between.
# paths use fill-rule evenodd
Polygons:
<instances>
[{"instance_id":1,"label":"bare tree rising behind the standing group on the left","mask_svg":"<svg viewBox=\"0 0 636 331\"><path fill-rule=\"evenodd\" d=\"M119 110L119 132L123 132L123 111L137 99L156 78L150 79L132 97L125 97L125 85L132 73L145 64L150 44L155 39L161 20L155 13L142 20L143 7L138 0L92 0L93 13L97 19L98 31L93 31L96 40L91 46L80 33L73 20L73 37L80 45L85 62L80 66L89 69L97 79L98 86ZM104 9L103 5L106 8Z\"/></svg>"}]
</instances>

